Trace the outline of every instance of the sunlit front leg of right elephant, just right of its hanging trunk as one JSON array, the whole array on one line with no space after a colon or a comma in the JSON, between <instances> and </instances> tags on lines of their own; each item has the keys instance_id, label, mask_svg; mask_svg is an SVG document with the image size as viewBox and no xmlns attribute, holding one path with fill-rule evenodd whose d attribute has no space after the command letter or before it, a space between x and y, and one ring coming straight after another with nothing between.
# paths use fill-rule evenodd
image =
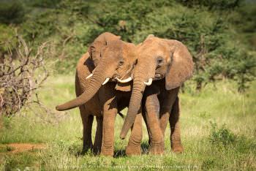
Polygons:
<instances>
[{"instance_id":1,"label":"sunlit front leg of right elephant, just right of its hanging trunk","mask_svg":"<svg viewBox=\"0 0 256 171\"><path fill-rule=\"evenodd\" d=\"M165 151L164 137L159 123L159 100L157 94L146 96L146 122L150 137L149 152L162 154Z\"/></svg>"}]
</instances>

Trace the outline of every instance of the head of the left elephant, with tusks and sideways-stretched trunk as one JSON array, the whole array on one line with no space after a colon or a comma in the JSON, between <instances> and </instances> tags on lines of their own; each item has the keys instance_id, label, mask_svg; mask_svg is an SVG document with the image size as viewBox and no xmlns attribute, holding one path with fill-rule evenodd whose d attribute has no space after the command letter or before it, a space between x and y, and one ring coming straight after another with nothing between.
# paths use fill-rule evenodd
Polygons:
<instances>
[{"instance_id":1,"label":"head of the left elephant, with tusks and sideways-stretched trunk","mask_svg":"<svg viewBox=\"0 0 256 171\"><path fill-rule=\"evenodd\" d=\"M85 104L109 80L115 82L118 80L121 83L132 80L129 75L136 57L135 45L132 43L123 42L114 34L101 34L89 47L89 54L91 60L94 61L95 69L91 75L86 77L90 79L86 91L77 98L58 105L56 110L69 110Z\"/></svg>"}]
</instances>

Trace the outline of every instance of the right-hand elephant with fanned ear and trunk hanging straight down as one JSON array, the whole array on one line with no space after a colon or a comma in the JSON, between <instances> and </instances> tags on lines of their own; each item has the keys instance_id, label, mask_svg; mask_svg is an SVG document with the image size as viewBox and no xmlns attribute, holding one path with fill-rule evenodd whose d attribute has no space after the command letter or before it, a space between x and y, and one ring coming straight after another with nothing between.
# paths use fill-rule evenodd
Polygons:
<instances>
[{"instance_id":1,"label":"right-hand elephant with fanned ear and trunk hanging straight down","mask_svg":"<svg viewBox=\"0 0 256 171\"><path fill-rule=\"evenodd\" d=\"M126 137L140 110L140 102L143 102L150 151L164 153L164 134L169 121L172 151L182 152L178 90L192 77L192 56L181 42L154 35L138 45L136 53L138 61L133 72L132 95L120 137Z\"/></svg>"}]
</instances>

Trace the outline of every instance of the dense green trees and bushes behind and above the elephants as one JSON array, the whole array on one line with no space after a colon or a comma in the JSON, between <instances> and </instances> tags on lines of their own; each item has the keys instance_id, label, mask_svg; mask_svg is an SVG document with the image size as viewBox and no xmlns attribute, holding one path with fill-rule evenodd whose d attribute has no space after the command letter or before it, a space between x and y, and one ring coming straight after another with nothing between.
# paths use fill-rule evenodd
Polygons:
<instances>
[{"instance_id":1,"label":"dense green trees and bushes behind and above the elephants","mask_svg":"<svg viewBox=\"0 0 256 171\"><path fill-rule=\"evenodd\" d=\"M238 91L244 91L255 80L256 59L249 51L256 47L255 4L242 0L20 3L19 7L26 7L26 20L20 20L19 33L33 45L53 40L60 73L75 71L89 44L110 31L127 42L140 43L148 34L183 42L195 62L197 89L228 78L236 80Z\"/></svg>"}]
</instances>

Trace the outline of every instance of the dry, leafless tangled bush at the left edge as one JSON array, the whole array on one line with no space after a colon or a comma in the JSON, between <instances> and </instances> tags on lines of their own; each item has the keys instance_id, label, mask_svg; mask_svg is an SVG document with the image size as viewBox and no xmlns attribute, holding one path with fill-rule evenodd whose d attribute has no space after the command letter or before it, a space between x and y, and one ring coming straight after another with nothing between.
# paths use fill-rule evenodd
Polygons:
<instances>
[{"instance_id":1,"label":"dry, leafless tangled bush at the left edge","mask_svg":"<svg viewBox=\"0 0 256 171\"><path fill-rule=\"evenodd\" d=\"M0 61L0 115L10 116L26 104L39 103L38 98L31 97L48 77L44 64L47 44L39 46L33 55L21 37L15 42L17 46L9 45L15 53L5 54Z\"/></svg>"}]
</instances>

